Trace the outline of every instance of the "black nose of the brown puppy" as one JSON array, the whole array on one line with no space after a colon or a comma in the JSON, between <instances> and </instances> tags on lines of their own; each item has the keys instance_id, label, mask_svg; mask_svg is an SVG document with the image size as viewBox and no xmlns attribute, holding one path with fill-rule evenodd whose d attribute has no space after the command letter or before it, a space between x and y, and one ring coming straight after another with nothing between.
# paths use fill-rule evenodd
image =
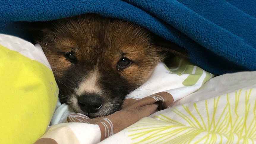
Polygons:
<instances>
[{"instance_id":1,"label":"black nose of the brown puppy","mask_svg":"<svg viewBox=\"0 0 256 144\"><path fill-rule=\"evenodd\" d=\"M102 106L103 99L98 94L83 94L78 98L81 110L88 113L97 112Z\"/></svg>"}]
</instances>

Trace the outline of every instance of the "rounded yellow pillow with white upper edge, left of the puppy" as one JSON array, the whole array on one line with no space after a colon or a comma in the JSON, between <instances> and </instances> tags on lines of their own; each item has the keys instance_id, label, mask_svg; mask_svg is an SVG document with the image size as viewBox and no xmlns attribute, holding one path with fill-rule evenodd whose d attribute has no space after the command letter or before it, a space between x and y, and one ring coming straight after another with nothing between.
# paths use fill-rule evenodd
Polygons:
<instances>
[{"instance_id":1,"label":"rounded yellow pillow with white upper edge, left of the puppy","mask_svg":"<svg viewBox=\"0 0 256 144\"><path fill-rule=\"evenodd\" d=\"M34 143L52 118L59 89L42 48L0 34L0 141Z\"/></svg>"}]
</instances>

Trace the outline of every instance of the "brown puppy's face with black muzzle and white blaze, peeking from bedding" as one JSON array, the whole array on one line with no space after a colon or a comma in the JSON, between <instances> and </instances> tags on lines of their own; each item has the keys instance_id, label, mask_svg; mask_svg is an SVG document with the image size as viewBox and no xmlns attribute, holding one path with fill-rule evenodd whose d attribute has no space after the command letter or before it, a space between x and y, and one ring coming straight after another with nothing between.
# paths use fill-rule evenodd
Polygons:
<instances>
[{"instance_id":1,"label":"brown puppy's face with black muzzle and white blaze, peeking from bedding","mask_svg":"<svg viewBox=\"0 0 256 144\"><path fill-rule=\"evenodd\" d=\"M120 110L166 56L148 30L93 14L43 23L33 36L52 67L61 103L90 117Z\"/></svg>"}]
</instances>

